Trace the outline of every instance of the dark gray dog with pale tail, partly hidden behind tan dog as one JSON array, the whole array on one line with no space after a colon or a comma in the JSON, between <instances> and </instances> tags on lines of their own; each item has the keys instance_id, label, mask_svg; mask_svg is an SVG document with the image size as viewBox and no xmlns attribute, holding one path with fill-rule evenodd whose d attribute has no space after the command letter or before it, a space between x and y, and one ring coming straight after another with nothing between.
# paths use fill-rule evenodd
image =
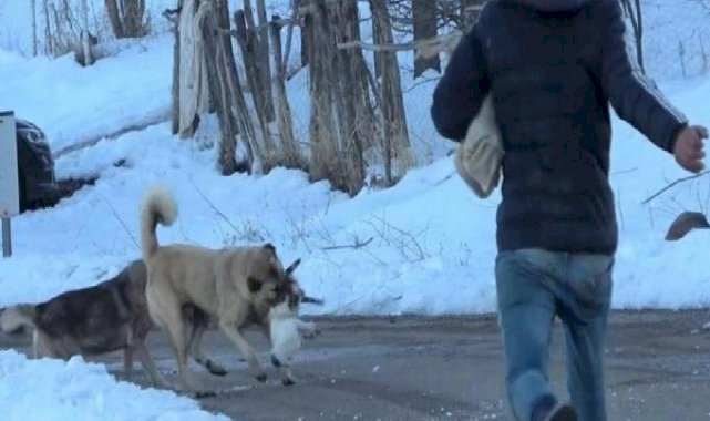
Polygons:
<instances>
[{"instance_id":1,"label":"dark gray dog with pale tail, partly hidden behind tan dog","mask_svg":"<svg viewBox=\"0 0 710 421\"><path fill-rule=\"evenodd\" d=\"M123 350L124 374L131 378L133 352L155 387L165 387L145 339L153 328L145 299L147 280L143 260L134 260L120 274L97 285L70 290L41 304L21 304L0 310L0 330L32 332L34 358L69 359ZM191 342L198 349L209 318L197 308L184 308L193 327ZM216 376L226 370L210 360L203 363Z\"/></svg>"}]
</instances>

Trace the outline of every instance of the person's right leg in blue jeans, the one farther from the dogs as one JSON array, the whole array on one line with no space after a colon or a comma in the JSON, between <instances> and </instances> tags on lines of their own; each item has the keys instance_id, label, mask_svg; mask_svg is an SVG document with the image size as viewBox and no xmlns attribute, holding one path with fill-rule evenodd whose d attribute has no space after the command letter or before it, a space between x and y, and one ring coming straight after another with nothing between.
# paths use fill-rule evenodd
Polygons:
<instances>
[{"instance_id":1,"label":"person's right leg in blue jeans, the one farther from the dogs","mask_svg":"<svg viewBox=\"0 0 710 421\"><path fill-rule=\"evenodd\" d=\"M569 297L560 305L567 348L567 388L582 421L606 421L604 340L611 300L614 258L572 255Z\"/></svg>"}]
</instances>

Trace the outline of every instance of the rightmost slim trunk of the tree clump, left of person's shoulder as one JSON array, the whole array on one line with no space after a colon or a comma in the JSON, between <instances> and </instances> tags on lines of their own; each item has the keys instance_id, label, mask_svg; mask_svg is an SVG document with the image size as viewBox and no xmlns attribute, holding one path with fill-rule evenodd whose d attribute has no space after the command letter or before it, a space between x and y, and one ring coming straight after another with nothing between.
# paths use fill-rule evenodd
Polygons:
<instances>
[{"instance_id":1,"label":"rightmost slim trunk of the tree clump, left of person's shoulder","mask_svg":"<svg viewBox=\"0 0 710 421\"><path fill-rule=\"evenodd\" d=\"M379 28L382 43L392 43L392 29L385 0L370 0L374 24ZM402 85L400 81L400 68L397 53L393 51L382 52L382 120L384 129L384 155L385 155L385 182L392 185L397 177L403 175L413 164L409 145L409 133L407 130L407 115L404 113L404 100L402 99ZM397 157L399 171L392 170L392 157Z\"/></svg>"}]
</instances>

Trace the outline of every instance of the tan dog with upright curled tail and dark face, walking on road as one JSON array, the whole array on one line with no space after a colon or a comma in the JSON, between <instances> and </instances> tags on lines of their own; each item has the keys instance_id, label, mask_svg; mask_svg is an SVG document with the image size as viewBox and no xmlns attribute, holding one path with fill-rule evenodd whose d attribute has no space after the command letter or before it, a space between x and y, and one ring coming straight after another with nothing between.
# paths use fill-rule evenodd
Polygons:
<instances>
[{"instance_id":1,"label":"tan dog with upright curled tail and dark face, walking on road","mask_svg":"<svg viewBox=\"0 0 710 421\"><path fill-rule=\"evenodd\" d=\"M287 275L276 248L270 244L220 249L158 246L157 224L169 226L176 216L177 205L169 193L161 187L147 193L141 209L141 243L148 273L145 294L151 317L167 333L175 351L183 388L200 392L187 371L192 340L186 337L184 306L195 306L214 318L239 349L253 376L266 381L266 372L241 329L263 322L282 295Z\"/></svg>"}]
</instances>

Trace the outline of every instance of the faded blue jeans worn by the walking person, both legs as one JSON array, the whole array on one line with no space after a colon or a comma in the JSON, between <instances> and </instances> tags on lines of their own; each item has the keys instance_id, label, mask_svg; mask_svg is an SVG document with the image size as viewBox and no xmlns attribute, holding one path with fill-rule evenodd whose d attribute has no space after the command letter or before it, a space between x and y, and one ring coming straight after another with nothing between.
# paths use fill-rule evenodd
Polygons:
<instances>
[{"instance_id":1,"label":"faded blue jeans worn by the walking person, both legs","mask_svg":"<svg viewBox=\"0 0 710 421\"><path fill-rule=\"evenodd\" d=\"M572 404L580 421L606 421L603 360L613 268L611 255L521 249L496 257L506 389L517 420L529 421L537 402L556 399L548 351L558 316Z\"/></svg>"}]
</instances>

